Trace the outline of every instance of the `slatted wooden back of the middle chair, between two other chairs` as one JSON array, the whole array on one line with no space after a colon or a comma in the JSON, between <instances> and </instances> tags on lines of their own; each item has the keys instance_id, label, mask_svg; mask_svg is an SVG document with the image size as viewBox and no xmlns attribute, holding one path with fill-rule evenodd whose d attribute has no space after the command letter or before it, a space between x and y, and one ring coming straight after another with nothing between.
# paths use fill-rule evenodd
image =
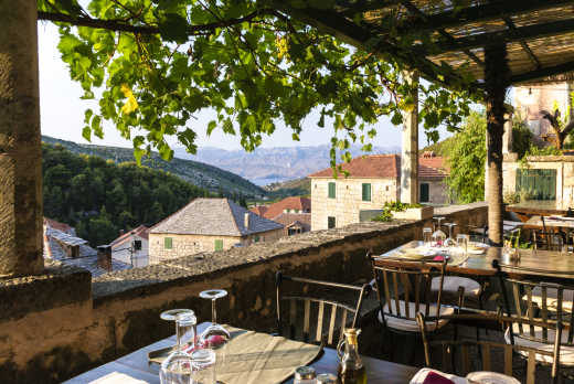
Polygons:
<instances>
[{"instance_id":1,"label":"slatted wooden back of the middle chair, between two other chairs","mask_svg":"<svg viewBox=\"0 0 574 384\"><path fill-rule=\"evenodd\" d=\"M387 317L416 321L416 313L419 311L425 314L428 321L436 321L438 326L446 259L443 262L419 262L371 257L371 263L385 326L385 318ZM434 278L439 279L439 285L433 291L432 281ZM414 308L410 303L413 303Z\"/></svg>"}]
</instances>

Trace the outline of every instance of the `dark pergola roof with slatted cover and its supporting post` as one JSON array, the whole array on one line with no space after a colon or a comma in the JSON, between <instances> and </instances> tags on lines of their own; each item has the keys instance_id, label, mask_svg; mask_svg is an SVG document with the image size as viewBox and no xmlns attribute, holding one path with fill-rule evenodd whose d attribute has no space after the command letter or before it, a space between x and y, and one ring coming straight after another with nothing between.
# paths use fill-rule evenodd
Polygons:
<instances>
[{"instance_id":1,"label":"dark pergola roof with slatted cover and its supporting post","mask_svg":"<svg viewBox=\"0 0 574 384\"><path fill-rule=\"evenodd\" d=\"M445 87L466 87L487 107L489 238L502 244L502 134L511 84L574 71L574 1L273 1L274 7L383 60L392 56ZM468 82L469 75L474 76ZM549 79L551 81L551 79ZM497 185L498 184L498 185Z\"/></svg>"}]
</instances>

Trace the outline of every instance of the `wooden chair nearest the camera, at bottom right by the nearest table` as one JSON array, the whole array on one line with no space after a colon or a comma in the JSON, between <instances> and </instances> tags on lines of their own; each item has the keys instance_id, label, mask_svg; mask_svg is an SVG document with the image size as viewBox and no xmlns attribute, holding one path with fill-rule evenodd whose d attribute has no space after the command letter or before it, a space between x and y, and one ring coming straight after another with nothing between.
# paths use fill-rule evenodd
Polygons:
<instances>
[{"instance_id":1,"label":"wooden chair nearest the camera, at bottom right by the nearest table","mask_svg":"<svg viewBox=\"0 0 574 384\"><path fill-rule=\"evenodd\" d=\"M548 343L543 345L510 344L483 340L429 341L425 329L425 317L423 313L418 313L417 322L423 338L426 366L457 375L467 375L474 371L489 371L500 372L512 377L514 376L512 370L513 360L520 355L527 359L527 384L535 383L535 370L536 366L540 365L549 365L551 367L552 383L557 383L561 355L560 340L562 338L562 324L560 321L542 324L529 318L488 317L480 314L475 314L474 318L475 321L482 323L497 321L514 326L519 324L523 328L544 326L546 329L553 331L553 339L549 339ZM470 317L465 317L465 319L468 320ZM439 349L442 353L432 353L433 349ZM438 364L440 365L436 366L438 364L433 364L433 360L435 360L435 362L438 360ZM509 380L509 382L513 381Z\"/></svg>"}]
</instances>

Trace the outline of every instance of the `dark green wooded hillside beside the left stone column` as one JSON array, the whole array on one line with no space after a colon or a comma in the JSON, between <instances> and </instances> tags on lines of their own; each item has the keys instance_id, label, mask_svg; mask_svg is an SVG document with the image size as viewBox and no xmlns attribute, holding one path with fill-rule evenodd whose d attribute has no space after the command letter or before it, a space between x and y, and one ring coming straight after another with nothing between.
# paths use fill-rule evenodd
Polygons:
<instances>
[{"instance_id":1,"label":"dark green wooded hillside beside the left stone column","mask_svg":"<svg viewBox=\"0 0 574 384\"><path fill-rule=\"evenodd\" d=\"M42 146L44 215L76 227L92 246L108 244L119 230L153 225L205 190L134 162L115 164Z\"/></svg>"}]
</instances>

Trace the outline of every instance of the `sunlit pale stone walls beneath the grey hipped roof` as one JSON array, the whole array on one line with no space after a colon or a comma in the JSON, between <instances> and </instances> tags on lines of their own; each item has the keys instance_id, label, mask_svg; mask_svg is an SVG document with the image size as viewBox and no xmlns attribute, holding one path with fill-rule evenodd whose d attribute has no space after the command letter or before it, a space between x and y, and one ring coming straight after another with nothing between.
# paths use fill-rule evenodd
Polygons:
<instances>
[{"instance_id":1,"label":"sunlit pale stone walls beneath the grey hipped roof","mask_svg":"<svg viewBox=\"0 0 574 384\"><path fill-rule=\"evenodd\" d=\"M284 228L252 234L248 236L206 236L206 235L177 235L149 234L149 264L182 256L190 256L202 252L214 252L215 241L223 242L223 250L234 246L247 246L257 242L273 242L283 236ZM171 238L171 249L166 248L166 237Z\"/></svg>"}]
</instances>

